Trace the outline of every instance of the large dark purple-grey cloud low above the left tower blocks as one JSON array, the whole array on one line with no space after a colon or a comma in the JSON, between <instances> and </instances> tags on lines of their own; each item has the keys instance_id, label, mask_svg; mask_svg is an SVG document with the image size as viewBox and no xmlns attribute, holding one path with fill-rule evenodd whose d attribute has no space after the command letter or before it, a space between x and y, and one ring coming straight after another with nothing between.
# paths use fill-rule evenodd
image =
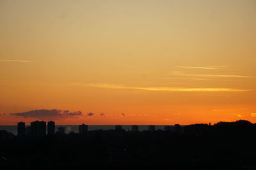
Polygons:
<instances>
[{"instance_id":1,"label":"large dark purple-grey cloud low above the left tower blocks","mask_svg":"<svg viewBox=\"0 0 256 170\"><path fill-rule=\"evenodd\" d=\"M81 111L70 112L68 110L31 110L20 113L10 113L12 116L24 118L38 118L40 120L56 120L59 118L80 117L83 115Z\"/></svg>"}]
</instances>

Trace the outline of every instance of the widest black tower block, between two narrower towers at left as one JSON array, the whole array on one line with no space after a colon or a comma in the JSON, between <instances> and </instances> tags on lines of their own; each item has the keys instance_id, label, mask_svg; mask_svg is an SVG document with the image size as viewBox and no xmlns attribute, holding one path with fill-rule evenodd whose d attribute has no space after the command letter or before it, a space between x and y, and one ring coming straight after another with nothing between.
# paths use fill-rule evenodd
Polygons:
<instances>
[{"instance_id":1,"label":"widest black tower block, between two narrower towers at left","mask_svg":"<svg viewBox=\"0 0 256 170\"><path fill-rule=\"evenodd\" d=\"M35 121L31 122L31 137L38 138L45 136L46 134L46 122Z\"/></svg>"}]
</instances>

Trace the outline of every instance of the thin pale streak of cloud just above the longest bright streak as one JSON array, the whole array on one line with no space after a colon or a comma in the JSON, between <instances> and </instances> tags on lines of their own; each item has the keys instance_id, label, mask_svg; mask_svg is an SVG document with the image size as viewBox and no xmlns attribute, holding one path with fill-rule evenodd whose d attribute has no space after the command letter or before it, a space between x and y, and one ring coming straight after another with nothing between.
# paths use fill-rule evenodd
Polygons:
<instances>
[{"instance_id":1,"label":"thin pale streak of cloud just above the longest bright streak","mask_svg":"<svg viewBox=\"0 0 256 170\"><path fill-rule=\"evenodd\" d=\"M218 78L252 78L252 76L232 75L232 74L188 74L179 71L173 71L172 76L200 76L200 77L218 77Z\"/></svg>"}]
</instances>

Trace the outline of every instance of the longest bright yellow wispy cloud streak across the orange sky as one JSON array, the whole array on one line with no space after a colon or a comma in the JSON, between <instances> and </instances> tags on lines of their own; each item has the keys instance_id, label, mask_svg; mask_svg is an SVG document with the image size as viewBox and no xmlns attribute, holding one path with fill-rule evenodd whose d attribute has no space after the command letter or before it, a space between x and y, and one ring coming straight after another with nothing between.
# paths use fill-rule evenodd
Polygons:
<instances>
[{"instance_id":1,"label":"longest bright yellow wispy cloud streak across the orange sky","mask_svg":"<svg viewBox=\"0 0 256 170\"><path fill-rule=\"evenodd\" d=\"M125 87L123 85L113 85L104 83L72 83L76 86L96 87L104 89L134 89L134 90L151 90L151 91L172 91L172 92L248 92L248 89L232 88L184 88L184 87Z\"/></svg>"}]
</instances>

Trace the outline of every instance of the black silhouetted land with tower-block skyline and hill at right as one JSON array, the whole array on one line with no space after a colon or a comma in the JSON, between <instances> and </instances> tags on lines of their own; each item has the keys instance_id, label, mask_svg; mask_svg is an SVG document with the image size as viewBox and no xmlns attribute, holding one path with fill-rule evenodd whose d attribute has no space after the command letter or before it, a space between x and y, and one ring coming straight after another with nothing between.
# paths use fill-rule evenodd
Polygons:
<instances>
[{"instance_id":1,"label":"black silhouetted land with tower-block skyline and hill at right","mask_svg":"<svg viewBox=\"0 0 256 170\"><path fill-rule=\"evenodd\" d=\"M18 136L0 131L0 169L256 169L256 124L246 120L142 132L53 127L44 136L36 125L30 134L22 124Z\"/></svg>"}]
</instances>

